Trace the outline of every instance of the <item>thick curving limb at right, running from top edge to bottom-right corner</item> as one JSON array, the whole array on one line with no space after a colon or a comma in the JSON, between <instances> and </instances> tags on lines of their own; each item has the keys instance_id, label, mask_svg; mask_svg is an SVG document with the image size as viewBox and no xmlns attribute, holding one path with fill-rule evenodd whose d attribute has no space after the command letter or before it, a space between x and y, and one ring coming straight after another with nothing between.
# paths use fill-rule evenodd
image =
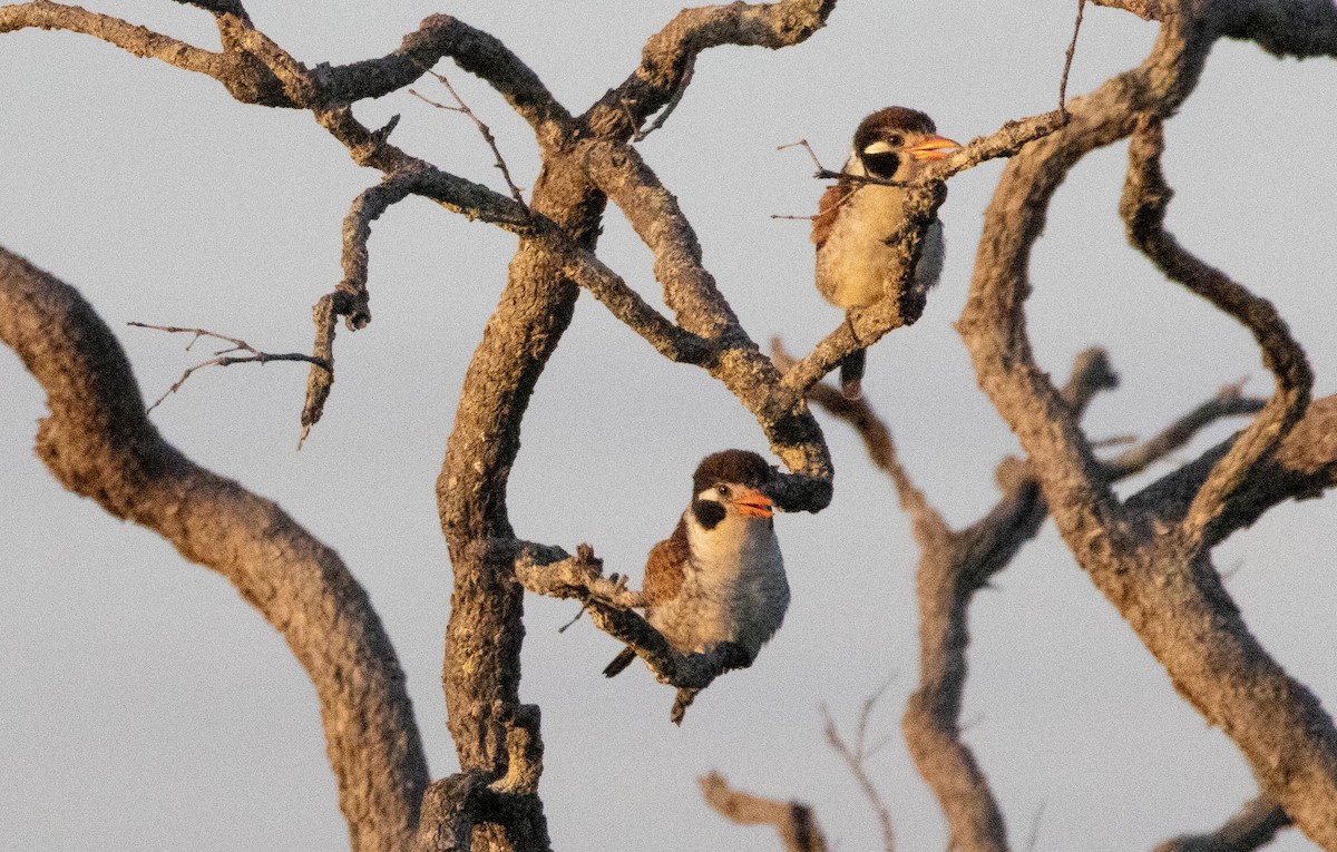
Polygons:
<instances>
[{"instance_id":1,"label":"thick curving limb at right, running from top edge to bottom-right corner","mask_svg":"<svg viewBox=\"0 0 1337 852\"><path fill-rule=\"evenodd\" d=\"M1157 523L1162 507L1124 507L1114 499L1107 471L1036 366L1025 334L1025 267L1055 188L1086 152L1130 135L1142 114L1173 114L1197 84L1219 35L1213 27L1221 4L1185 0L1177 7L1138 69L1075 100L1067 127L1008 164L985 214L987 236L957 327L981 387L1017 434L1078 562L1177 690L1234 740L1265 795L1312 840L1337 848L1332 720L1249 633L1203 550L1218 536L1167 530ZM1282 407L1292 410L1289 403ZM1258 458L1253 453L1253 446L1243 447L1241 457ZM1251 479L1263 474L1245 477L1243 490L1227 483L1226 493L1237 497L1221 505L1238 511L1233 503L1243 503L1245 491L1263 487Z\"/></svg>"}]
</instances>

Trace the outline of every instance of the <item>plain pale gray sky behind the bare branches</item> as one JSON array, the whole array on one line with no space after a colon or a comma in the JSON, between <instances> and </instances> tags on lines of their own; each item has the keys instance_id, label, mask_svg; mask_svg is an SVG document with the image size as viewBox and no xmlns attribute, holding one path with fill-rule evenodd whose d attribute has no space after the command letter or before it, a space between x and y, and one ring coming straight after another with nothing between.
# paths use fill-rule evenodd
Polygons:
<instances>
[{"instance_id":1,"label":"plain pale gray sky behind the bare branches","mask_svg":"<svg viewBox=\"0 0 1337 852\"><path fill-rule=\"evenodd\" d=\"M167 0L88 1L217 47L209 15ZM316 64L384 55L448 11L503 39L572 111L635 65L678 3L249 4ZM640 144L705 246L706 263L758 341L801 350L840 314L812 286L806 214L822 184L806 138L838 167L862 115L923 108L961 142L1055 105L1075 3L842 0L826 29L778 52L722 48L664 130ZM579 9L579 11L571 11ZM1154 25L1088 8L1070 93L1146 53ZM233 101L215 81L67 33L0 36L0 244L78 286L116 330L144 395L205 350L127 329L203 326L270 351L309 350L310 304L340 278L340 222L377 175L306 114ZM492 126L516 180L536 171L527 127L447 65ZM444 96L435 83L425 93ZM1337 64L1275 60L1222 43L1167 127L1177 190L1170 227L1190 248L1273 299L1334 390ZM406 93L357 107L396 142L500 187L472 124ZM1148 435L1251 377L1247 335L1165 283L1123 239L1123 146L1059 191L1032 263L1029 327L1046 369L1110 349L1123 386L1087 418L1092 437ZM924 318L870 357L865 387L904 461L956 523L993 499L992 467L1015 449L977 391L952 330L980 216L1001 170L955 178L943 208L948 263ZM334 546L369 590L409 674L433 776L455 771L440 660L449 565L433 483L473 346L515 239L420 200L389 211L372 242L374 322L337 341L325 419L294 451L305 370L209 370L154 413L195 461L277 499ZM650 255L610 211L600 255L656 300ZM893 405L893 401L896 405ZM0 353L0 825L16 849L329 849L346 844L310 684L223 580L152 534L63 491L32 454L43 397ZM1229 434L1218 427L1197 449ZM828 429L837 494L820 515L778 521L793 586L783 629L745 672L718 681L679 730L671 690L636 666L599 670L618 645L575 605L529 597L521 696L543 706L543 796L554 843L574 849L775 849L725 824L695 777L718 769L758 793L817 808L840 849L874 847L876 823L825 747L820 706L852 724L893 678L874 728L894 734L872 765L904 849L943 848L941 817L898 738L916 677L916 552L888 482L856 437ZM689 498L697 461L765 450L755 423L703 371L662 361L583 296L539 385L511 481L521 537L588 541L608 570L639 577ZM1163 473L1159 471L1159 473ZM1157 474L1152 474L1157 475ZM1136 483L1130 485L1136 487ZM1263 645L1329 708L1337 700L1337 534L1330 501L1288 505L1217 554ZM1013 843L1043 808L1036 849L1147 849L1219 824L1254 785L1233 745L1179 700L1162 669L1074 565L1051 527L972 612L967 740ZM590 832L590 833L587 833ZM1275 844L1313 848L1290 832Z\"/></svg>"}]
</instances>

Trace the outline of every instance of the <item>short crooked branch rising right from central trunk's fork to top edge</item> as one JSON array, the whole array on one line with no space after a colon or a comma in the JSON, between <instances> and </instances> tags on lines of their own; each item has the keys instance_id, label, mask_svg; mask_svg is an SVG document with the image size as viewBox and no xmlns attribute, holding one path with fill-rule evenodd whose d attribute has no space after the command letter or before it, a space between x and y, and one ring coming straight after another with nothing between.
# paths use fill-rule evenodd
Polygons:
<instances>
[{"instance_id":1,"label":"short crooked branch rising right from central trunk's fork to top edge","mask_svg":"<svg viewBox=\"0 0 1337 852\"><path fill-rule=\"evenodd\" d=\"M836 0L781 0L683 9L646 41L640 64L588 110L586 124L602 139L630 139L651 115L682 97L702 51L725 44L790 47L821 29L834 8Z\"/></svg>"}]
</instances>

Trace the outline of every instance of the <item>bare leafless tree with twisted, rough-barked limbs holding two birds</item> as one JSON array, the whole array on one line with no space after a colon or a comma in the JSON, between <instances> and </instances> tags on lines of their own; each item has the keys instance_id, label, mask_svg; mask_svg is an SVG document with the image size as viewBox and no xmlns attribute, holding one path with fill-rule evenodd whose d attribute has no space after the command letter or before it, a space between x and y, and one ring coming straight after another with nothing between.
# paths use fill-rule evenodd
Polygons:
<instances>
[{"instance_id":1,"label":"bare leafless tree with twisted, rough-barked limbs holding two birds","mask_svg":"<svg viewBox=\"0 0 1337 852\"><path fill-rule=\"evenodd\" d=\"M580 114L558 103L496 36L447 15L424 20L386 56L330 65L289 53L253 24L241 0L187 4L214 17L219 52L48 0L0 7L0 33L86 33L209 75L238 101L310 112L356 163L381 172L380 183L349 207L344 279L316 306L308 427L320 419L333 386L337 319L350 330L372 319L372 222L418 196L520 238L507 287L469 365L437 481L455 574L443 684L460 772L428 777L389 637L338 557L274 503L167 443L146 418L115 337L88 303L4 252L0 339L20 355L48 399L37 453L66 487L222 573L283 633L320 694L354 849L545 849L537 793L540 712L519 698L524 592L579 598L600 629L632 646L671 686L701 689L727 668L715 654L674 652L632 612L638 596L603 576L592 549L572 556L525 541L512 529L507 479L523 417L579 291L588 290L666 359L702 367L737 397L787 467L774 483L778 502L806 511L822 510L832 498L830 458L808 407L809 393L853 349L913 322L923 308L885 299L778 369L741 326L702 263L691 224L634 144L685 96L701 52L726 44L797 44L825 24L836 1L685 9L646 43L627 79ZM999 509L983 526L960 533L935 523L923 495L896 473L894 457L888 462L889 473L900 477L902 505L915 514L924 565L941 565L935 588L921 566L920 592L921 606L933 616L921 626L925 661L932 664L925 668L931 677L933 670L944 674L925 682L912 701L905 722L910 748L948 813L957 848L1005 848L1001 815L953 736L964 677L964 608L971 592L1052 517L1074 558L1177 690L1245 755L1267 819L1277 823L1281 813L1322 848L1337 849L1337 730L1318 701L1249 634L1211 564L1217 544L1271 506L1333 485L1337 398L1310 401L1305 354L1265 299L1163 230L1170 191L1159 170L1159 123L1191 95L1218 39L1247 39L1277 55L1334 56L1337 9L1328 0L1102 5L1159 21L1147 59L1063 111L1008 123L945 160L909 194L910 227L888 275L889 292L909 291L905 283L924 228L951 175L985 159L1012 158L985 214L959 330L981 387L1019 437L1025 461L1004 477ZM352 104L405 89L444 59L487 81L531 127L543 168L528 202L406 154L390 140L394 122L372 128L354 118ZM463 103L460 108L467 110ZM1110 483L1163 450L1143 447L1140 462L1096 458L1078 425L1090 393L1082 370L1062 391L1036 366L1025 296L1027 260L1052 192L1083 155L1127 138L1123 215L1130 239L1169 279L1253 333L1275 391L1231 439L1118 499ZM608 202L654 254L671 316L599 259ZM1230 411L1221 413L1241 413L1238 405L1222 405ZM1191 434L1193 425L1181 431ZM1169 438L1166 446L1177 441ZM1003 515L1009 526L1003 526ZM957 558L963 550L975 552L973 561Z\"/></svg>"}]
</instances>

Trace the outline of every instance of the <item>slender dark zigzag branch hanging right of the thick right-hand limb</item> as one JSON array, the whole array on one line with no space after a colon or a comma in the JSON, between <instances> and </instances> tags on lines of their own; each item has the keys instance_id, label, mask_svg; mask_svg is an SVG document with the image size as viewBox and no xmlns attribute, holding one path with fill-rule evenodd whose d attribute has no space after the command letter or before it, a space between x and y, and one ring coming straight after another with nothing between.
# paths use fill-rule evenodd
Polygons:
<instances>
[{"instance_id":1,"label":"slender dark zigzag branch hanging right of the thick right-hand limb","mask_svg":"<svg viewBox=\"0 0 1337 852\"><path fill-rule=\"evenodd\" d=\"M1271 302L1258 298L1223 272L1186 251L1165 230L1166 207L1173 195L1161 172L1165 136L1161 122L1142 116L1128 144L1128 174L1119 204L1128 242L1166 274L1243 325L1262 349L1275 391L1254 422L1217 462L1185 515L1185 531L1194 540L1207 536L1206 526L1229 502L1247 489L1258 461L1269 455L1286 433L1305 415L1313 373L1305 351L1290 337Z\"/></svg>"}]
</instances>

